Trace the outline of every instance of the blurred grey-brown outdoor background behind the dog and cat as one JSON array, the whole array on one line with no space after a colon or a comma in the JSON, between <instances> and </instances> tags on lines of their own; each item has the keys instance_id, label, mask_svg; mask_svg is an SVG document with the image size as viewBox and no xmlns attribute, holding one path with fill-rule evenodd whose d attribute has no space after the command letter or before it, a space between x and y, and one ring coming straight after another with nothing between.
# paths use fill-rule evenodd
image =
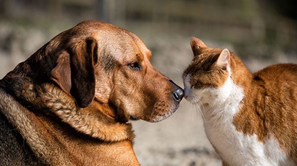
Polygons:
<instances>
[{"instance_id":1,"label":"blurred grey-brown outdoor background behind the dog and cat","mask_svg":"<svg viewBox=\"0 0 297 166\"><path fill-rule=\"evenodd\" d=\"M190 38L228 48L255 72L297 63L297 0L0 0L0 79L58 33L86 19L123 27L152 51L152 64L183 87ZM182 101L160 123L133 122L143 166L221 166L203 119Z\"/></svg>"}]
</instances>

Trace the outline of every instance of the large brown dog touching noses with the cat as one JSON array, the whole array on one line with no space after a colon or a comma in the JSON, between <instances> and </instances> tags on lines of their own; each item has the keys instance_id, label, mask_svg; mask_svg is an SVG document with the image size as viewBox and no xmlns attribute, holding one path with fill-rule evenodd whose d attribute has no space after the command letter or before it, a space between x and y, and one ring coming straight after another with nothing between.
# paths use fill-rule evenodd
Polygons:
<instances>
[{"instance_id":1,"label":"large brown dog touching noses with the cat","mask_svg":"<svg viewBox=\"0 0 297 166\"><path fill-rule=\"evenodd\" d=\"M0 80L0 163L138 166L129 120L158 122L184 92L130 31L88 20Z\"/></svg>"}]
</instances>

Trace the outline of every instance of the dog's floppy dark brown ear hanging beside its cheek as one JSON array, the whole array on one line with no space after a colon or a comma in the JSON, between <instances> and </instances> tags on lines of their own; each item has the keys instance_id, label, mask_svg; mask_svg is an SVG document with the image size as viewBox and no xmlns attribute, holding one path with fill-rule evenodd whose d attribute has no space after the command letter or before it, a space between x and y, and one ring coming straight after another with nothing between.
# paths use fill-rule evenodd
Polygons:
<instances>
[{"instance_id":1,"label":"dog's floppy dark brown ear hanging beside its cheek","mask_svg":"<svg viewBox=\"0 0 297 166\"><path fill-rule=\"evenodd\" d=\"M51 71L51 79L72 95L77 106L88 107L95 96L94 65L98 61L97 42L92 37L69 44Z\"/></svg>"}]
</instances>

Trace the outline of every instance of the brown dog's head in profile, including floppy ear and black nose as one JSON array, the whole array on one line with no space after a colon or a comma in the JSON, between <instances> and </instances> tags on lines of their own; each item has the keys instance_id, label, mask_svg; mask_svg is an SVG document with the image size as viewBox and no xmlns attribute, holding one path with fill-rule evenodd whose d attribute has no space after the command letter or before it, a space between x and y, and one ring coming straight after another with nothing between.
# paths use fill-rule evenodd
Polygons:
<instances>
[{"instance_id":1,"label":"brown dog's head in profile, including floppy ear and black nose","mask_svg":"<svg viewBox=\"0 0 297 166\"><path fill-rule=\"evenodd\" d=\"M161 121L177 110L184 95L150 64L151 53L135 34L108 23L81 22L53 38L44 52L56 59L51 80L78 107L97 100L119 121Z\"/></svg>"}]
</instances>

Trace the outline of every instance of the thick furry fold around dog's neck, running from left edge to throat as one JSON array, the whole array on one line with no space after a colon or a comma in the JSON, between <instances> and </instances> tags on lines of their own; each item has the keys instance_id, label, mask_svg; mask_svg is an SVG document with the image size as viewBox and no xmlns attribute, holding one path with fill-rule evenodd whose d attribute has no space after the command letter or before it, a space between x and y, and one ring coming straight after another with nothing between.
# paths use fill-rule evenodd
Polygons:
<instances>
[{"instance_id":1,"label":"thick furry fold around dog's neck, running from left edge to throat","mask_svg":"<svg viewBox=\"0 0 297 166\"><path fill-rule=\"evenodd\" d=\"M11 79L19 79L14 81L18 84L10 84ZM87 108L78 108L74 98L54 84L37 84L29 77L19 75L5 76L0 85L30 110L53 113L75 130L93 138L109 142L134 138L131 124L117 122L110 107L96 100Z\"/></svg>"}]
</instances>

